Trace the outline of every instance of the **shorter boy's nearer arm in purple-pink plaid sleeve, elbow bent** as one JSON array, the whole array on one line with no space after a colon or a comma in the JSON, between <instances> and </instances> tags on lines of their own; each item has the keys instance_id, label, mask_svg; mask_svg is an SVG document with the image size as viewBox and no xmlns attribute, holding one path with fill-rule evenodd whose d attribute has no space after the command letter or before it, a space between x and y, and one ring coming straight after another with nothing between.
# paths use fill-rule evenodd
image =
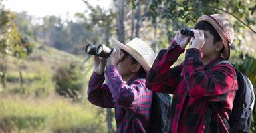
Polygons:
<instances>
[{"instance_id":1,"label":"shorter boy's nearer arm in purple-pink plaid sleeve, elbow bent","mask_svg":"<svg viewBox=\"0 0 256 133\"><path fill-rule=\"evenodd\" d=\"M146 89L145 78L136 79L128 85L122 80L114 65L108 66L105 72L113 102L116 102L123 108L127 108L131 112L136 112L143 102L152 101L152 92Z\"/></svg>"}]
</instances>

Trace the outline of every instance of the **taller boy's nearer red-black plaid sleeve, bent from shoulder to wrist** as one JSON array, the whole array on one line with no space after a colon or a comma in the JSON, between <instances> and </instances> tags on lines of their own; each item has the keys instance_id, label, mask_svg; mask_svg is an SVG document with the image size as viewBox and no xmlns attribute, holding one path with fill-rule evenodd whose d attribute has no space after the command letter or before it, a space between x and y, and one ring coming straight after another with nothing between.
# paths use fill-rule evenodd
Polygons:
<instances>
[{"instance_id":1,"label":"taller boy's nearer red-black plaid sleeve, bent from shoulder to wrist","mask_svg":"<svg viewBox=\"0 0 256 133\"><path fill-rule=\"evenodd\" d=\"M199 49L186 51L182 76L187 82L190 96L204 98L212 102L225 101L227 94L233 87L235 69L228 64L221 63L205 73L205 66L201 61L203 53Z\"/></svg>"}]
</instances>

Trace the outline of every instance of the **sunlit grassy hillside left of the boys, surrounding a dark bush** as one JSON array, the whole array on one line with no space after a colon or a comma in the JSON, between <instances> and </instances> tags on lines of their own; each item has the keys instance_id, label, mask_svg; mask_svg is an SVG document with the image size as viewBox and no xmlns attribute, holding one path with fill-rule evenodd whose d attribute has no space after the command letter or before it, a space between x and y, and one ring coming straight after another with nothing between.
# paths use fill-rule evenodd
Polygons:
<instances>
[{"instance_id":1,"label":"sunlit grassy hillside left of the boys, surrounding a dark bush","mask_svg":"<svg viewBox=\"0 0 256 133\"><path fill-rule=\"evenodd\" d=\"M84 57L36 45L24 62L11 56L1 61L7 70L6 87L0 84L0 132L106 132L104 110L83 100L91 59L84 63ZM59 96L53 80L59 68L72 63L84 74L76 101Z\"/></svg>"}]
</instances>

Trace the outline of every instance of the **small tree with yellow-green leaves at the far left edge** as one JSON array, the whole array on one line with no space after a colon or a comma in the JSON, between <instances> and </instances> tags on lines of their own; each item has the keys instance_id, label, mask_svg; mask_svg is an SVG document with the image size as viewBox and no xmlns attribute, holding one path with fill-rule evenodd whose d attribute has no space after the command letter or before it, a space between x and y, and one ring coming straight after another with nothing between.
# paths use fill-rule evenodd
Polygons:
<instances>
[{"instance_id":1,"label":"small tree with yellow-green leaves at the far left edge","mask_svg":"<svg viewBox=\"0 0 256 133\"><path fill-rule=\"evenodd\" d=\"M31 52L31 43L24 42L22 40L21 34L17 30L17 25L13 22L13 18L15 15L10 11L5 11L1 9L1 23L0 23L0 34L2 35L0 39L0 57L1 61L5 61L7 55L12 55L14 57L18 57L23 61L26 55ZM3 87L5 88L5 73L7 71L6 63L1 62L1 82ZM20 81L22 85L22 73L20 74Z\"/></svg>"}]
</instances>

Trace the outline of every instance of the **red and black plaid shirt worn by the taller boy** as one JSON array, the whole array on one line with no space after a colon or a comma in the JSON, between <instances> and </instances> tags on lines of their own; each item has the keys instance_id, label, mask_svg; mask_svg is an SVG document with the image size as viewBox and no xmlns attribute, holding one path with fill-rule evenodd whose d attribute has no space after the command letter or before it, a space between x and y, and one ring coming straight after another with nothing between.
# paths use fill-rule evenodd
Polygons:
<instances>
[{"instance_id":1,"label":"red and black plaid shirt worn by the taller boy","mask_svg":"<svg viewBox=\"0 0 256 133\"><path fill-rule=\"evenodd\" d=\"M184 52L176 41L162 50L146 77L146 86L154 92L173 94L170 128L172 132L204 132L209 102L217 102L209 132L228 132L221 117L229 119L238 88L235 69L221 63L207 72L199 49L187 49L183 63L170 68Z\"/></svg>"}]
</instances>

